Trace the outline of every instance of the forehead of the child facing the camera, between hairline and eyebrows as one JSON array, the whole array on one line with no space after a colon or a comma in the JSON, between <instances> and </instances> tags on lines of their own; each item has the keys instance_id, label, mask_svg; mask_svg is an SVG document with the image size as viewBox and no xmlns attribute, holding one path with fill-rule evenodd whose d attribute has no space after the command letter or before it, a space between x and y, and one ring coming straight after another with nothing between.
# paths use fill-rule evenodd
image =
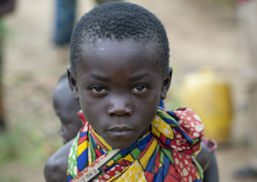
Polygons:
<instances>
[{"instance_id":1,"label":"forehead of the child facing the camera, between hairline and eyebrows","mask_svg":"<svg viewBox=\"0 0 257 182\"><path fill-rule=\"evenodd\" d=\"M121 41L100 39L94 44L84 43L81 46L81 66L94 69L96 67L103 67L107 64L117 67L123 67L127 70L145 69L152 67L156 72L161 71L158 64L156 43L152 42L139 42L133 39L125 39ZM105 67L103 67L104 69ZM109 67L110 68L110 67ZM109 70L110 71L110 70Z\"/></svg>"}]
</instances>

